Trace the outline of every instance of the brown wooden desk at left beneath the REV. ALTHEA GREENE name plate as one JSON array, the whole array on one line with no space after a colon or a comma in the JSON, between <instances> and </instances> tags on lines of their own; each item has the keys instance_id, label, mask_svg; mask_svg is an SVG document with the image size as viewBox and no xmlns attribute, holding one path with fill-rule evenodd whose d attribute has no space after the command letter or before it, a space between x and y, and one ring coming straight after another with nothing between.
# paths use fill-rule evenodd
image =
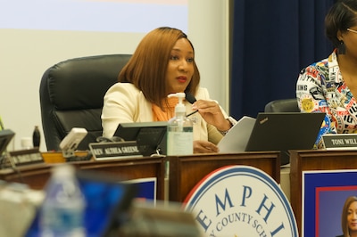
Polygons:
<instances>
[{"instance_id":1,"label":"brown wooden desk at left beneath the REV. ALTHEA GREENE name plate","mask_svg":"<svg viewBox=\"0 0 357 237\"><path fill-rule=\"evenodd\" d=\"M54 153L51 154L54 160L60 160L59 162L61 162L62 153L58 153L57 156L55 156ZM159 200L163 200L164 166L162 162L163 159L160 157L137 157L129 159L79 161L71 162L71 164L79 169L102 172L114 178L118 178L118 180L157 177L156 197ZM51 175L51 168L54 165L55 164L51 163L39 163L19 167L16 171L12 168L4 168L0 170L0 179L8 182L29 184L30 188L41 190Z\"/></svg>"}]
</instances>

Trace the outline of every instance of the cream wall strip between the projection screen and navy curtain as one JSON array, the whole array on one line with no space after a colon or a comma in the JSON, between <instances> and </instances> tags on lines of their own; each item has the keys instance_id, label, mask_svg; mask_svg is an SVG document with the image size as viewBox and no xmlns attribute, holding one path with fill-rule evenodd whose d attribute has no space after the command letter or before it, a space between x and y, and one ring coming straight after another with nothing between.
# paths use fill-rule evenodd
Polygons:
<instances>
[{"instance_id":1,"label":"cream wall strip between the projection screen and navy curtain","mask_svg":"<svg viewBox=\"0 0 357 237\"><path fill-rule=\"evenodd\" d=\"M201 86L229 109L228 0L188 1L188 37L195 46L195 61L201 72Z\"/></svg>"}]
</instances>

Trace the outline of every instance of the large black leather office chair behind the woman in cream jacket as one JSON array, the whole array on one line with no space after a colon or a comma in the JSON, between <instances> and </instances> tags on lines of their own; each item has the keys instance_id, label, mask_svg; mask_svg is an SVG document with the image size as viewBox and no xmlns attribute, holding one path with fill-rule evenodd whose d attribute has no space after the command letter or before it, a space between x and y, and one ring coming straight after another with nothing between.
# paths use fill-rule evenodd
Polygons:
<instances>
[{"instance_id":1,"label":"large black leather office chair behind the woman in cream jacket","mask_svg":"<svg viewBox=\"0 0 357 237\"><path fill-rule=\"evenodd\" d=\"M87 129L78 150L102 135L104 94L118 81L129 54L88 56L62 61L46 69L39 87L42 127L48 151L59 151L72 127Z\"/></svg>"}]
</instances>

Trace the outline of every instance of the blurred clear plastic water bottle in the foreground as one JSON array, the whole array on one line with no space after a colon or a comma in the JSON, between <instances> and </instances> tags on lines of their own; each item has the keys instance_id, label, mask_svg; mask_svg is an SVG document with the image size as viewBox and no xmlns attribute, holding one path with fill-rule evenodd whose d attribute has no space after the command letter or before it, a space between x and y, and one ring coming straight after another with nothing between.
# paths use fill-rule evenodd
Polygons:
<instances>
[{"instance_id":1,"label":"blurred clear plastic water bottle in the foreground","mask_svg":"<svg viewBox=\"0 0 357 237\"><path fill-rule=\"evenodd\" d=\"M40 210L40 236L86 236L85 208L86 200L80 192L75 168L68 164L54 167Z\"/></svg>"}]
</instances>

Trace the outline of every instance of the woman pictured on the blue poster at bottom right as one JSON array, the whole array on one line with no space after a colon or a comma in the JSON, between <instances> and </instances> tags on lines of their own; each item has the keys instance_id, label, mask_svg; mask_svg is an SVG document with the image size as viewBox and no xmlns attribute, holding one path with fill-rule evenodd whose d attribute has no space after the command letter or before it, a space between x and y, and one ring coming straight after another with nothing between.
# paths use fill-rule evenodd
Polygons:
<instances>
[{"instance_id":1,"label":"woman pictured on the blue poster at bottom right","mask_svg":"<svg viewBox=\"0 0 357 237\"><path fill-rule=\"evenodd\" d=\"M357 236L357 197L351 196L345 200L341 215L341 227L343 235L336 237L356 237Z\"/></svg>"}]
</instances>

